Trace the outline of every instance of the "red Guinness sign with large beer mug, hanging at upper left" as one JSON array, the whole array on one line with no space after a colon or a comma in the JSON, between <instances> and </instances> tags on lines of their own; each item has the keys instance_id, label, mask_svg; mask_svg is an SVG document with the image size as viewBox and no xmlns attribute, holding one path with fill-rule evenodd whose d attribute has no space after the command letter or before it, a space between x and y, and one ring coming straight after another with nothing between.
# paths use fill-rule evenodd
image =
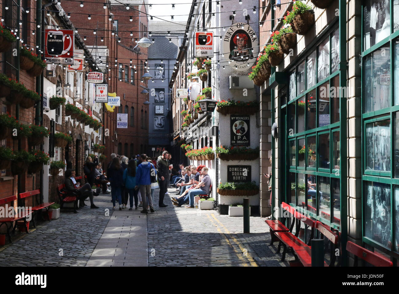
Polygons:
<instances>
[{"instance_id":1,"label":"red Guinness sign with large beer mug, hanging at upper left","mask_svg":"<svg viewBox=\"0 0 399 294\"><path fill-rule=\"evenodd\" d=\"M73 64L74 47L73 30L45 30L45 58L47 63Z\"/></svg>"}]
</instances>

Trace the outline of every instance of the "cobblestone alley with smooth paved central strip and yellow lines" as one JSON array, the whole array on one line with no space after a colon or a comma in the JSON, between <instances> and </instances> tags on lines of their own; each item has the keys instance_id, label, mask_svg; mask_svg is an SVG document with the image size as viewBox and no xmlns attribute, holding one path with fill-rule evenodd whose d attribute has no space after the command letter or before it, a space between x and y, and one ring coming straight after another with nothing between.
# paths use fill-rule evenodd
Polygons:
<instances>
[{"instance_id":1,"label":"cobblestone alley with smooth paved central strip and yellow lines","mask_svg":"<svg viewBox=\"0 0 399 294\"><path fill-rule=\"evenodd\" d=\"M269 246L269 228L260 217L251 217L251 234L242 234L242 217L178 208L168 196L164 202L169 206L156 205L148 216L140 210L113 211L110 198L95 197L100 209L64 212L29 234L17 233L12 244L0 248L0 265L286 266L293 259L288 254L280 262L277 243Z\"/></svg>"}]
</instances>

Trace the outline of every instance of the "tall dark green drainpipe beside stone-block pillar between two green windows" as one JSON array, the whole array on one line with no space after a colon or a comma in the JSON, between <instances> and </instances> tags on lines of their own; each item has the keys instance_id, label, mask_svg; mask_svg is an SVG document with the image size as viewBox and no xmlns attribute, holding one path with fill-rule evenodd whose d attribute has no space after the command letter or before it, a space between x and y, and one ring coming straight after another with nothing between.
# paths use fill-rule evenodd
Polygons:
<instances>
[{"instance_id":1,"label":"tall dark green drainpipe beside stone-block pillar between two green windows","mask_svg":"<svg viewBox=\"0 0 399 294\"><path fill-rule=\"evenodd\" d=\"M347 20L347 11L346 11L346 0L340 0L339 4L340 9L340 89L347 86L347 76L348 76L348 63L347 63L347 36L346 36L346 20ZM344 92L344 91L342 91ZM345 91L347 92L347 91ZM341 96L341 95L340 95ZM345 160L341 159L341 180L340 180L340 208L341 208L341 248L346 248L346 242L348 240L348 219L347 219L347 148L346 144L342 144L347 140L347 123L346 123L346 100L347 97L340 97L340 154L341 157L345 157ZM341 250L341 266L348 266L348 253L346 250Z\"/></svg>"}]
</instances>

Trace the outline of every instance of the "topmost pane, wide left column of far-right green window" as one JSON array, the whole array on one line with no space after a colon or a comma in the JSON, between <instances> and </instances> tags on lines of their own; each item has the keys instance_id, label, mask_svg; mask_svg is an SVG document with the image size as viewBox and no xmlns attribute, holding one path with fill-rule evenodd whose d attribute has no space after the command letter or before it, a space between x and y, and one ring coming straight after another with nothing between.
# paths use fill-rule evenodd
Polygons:
<instances>
[{"instance_id":1,"label":"topmost pane, wide left column of far-right green window","mask_svg":"<svg viewBox=\"0 0 399 294\"><path fill-rule=\"evenodd\" d=\"M389 0L363 1L364 50L377 44L391 33Z\"/></svg>"}]
</instances>

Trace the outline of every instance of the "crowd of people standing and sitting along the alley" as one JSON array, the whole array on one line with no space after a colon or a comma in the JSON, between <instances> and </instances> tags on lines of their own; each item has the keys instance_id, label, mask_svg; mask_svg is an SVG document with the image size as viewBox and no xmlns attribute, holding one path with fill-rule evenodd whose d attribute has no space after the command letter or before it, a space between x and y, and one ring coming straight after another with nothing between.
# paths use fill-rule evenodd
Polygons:
<instances>
[{"instance_id":1,"label":"crowd of people standing and sitting along the alley","mask_svg":"<svg viewBox=\"0 0 399 294\"><path fill-rule=\"evenodd\" d=\"M65 171L65 189L74 191L79 195L80 207L86 206L85 200L90 199L90 208L98 208L93 202L93 196L98 196L93 192L93 185L101 186L103 194L111 194L113 209L118 204L119 210L128 208L140 212L154 212L154 190L159 188L160 208L168 205L164 204L165 194L168 187L176 188L176 196L172 197L175 206L182 206L188 203L188 208L194 208L194 196L209 194L211 178L208 175L208 168L200 165L187 166L180 164L176 172L170 160L172 155L168 151L162 152L158 158L148 157L146 154L138 154L132 158L111 154L111 161L107 166L107 172L103 172L98 157L94 159L87 156L83 166L83 172L87 183L80 187L75 180L75 170ZM107 190L107 184L111 186L111 192ZM99 192L99 190L97 190Z\"/></svg>"}]
</instances>

